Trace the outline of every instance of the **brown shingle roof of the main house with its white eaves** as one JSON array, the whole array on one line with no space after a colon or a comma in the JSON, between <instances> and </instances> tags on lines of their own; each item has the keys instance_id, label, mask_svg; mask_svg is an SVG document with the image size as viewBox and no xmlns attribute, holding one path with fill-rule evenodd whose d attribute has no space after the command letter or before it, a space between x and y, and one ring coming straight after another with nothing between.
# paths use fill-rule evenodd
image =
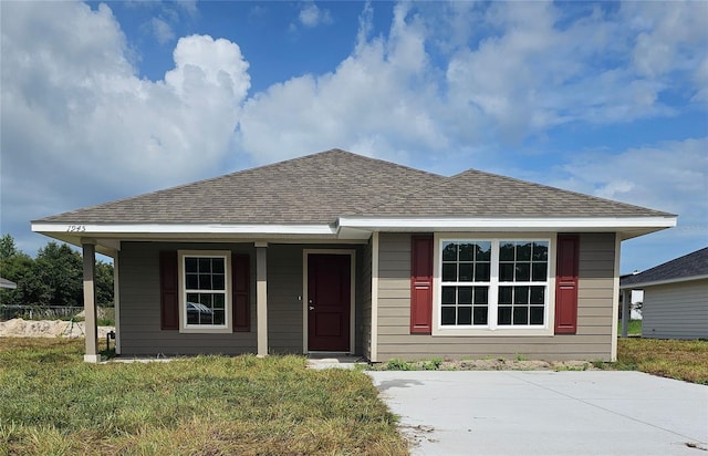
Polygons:
<instances>
[{"instance_id":1,"label":"brown shingle roof of the main house with its white eaves","mask_svg":"<svg viewBox=\"0 0 708 456\"><path fill-rule=\"evenodd\" d=\"M446 177L332 149L46 217L32 229L72 243L101 234L367 239L385 229L507 228L626 239L675 224L671 214L509 177L471 169Z\"/></svg>"}]
</instances>

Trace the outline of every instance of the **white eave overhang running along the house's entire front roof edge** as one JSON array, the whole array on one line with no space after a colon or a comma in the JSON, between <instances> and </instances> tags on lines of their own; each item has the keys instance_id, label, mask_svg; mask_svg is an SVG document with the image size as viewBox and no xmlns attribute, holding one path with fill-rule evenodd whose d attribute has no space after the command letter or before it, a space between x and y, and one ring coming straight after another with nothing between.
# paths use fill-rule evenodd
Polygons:
<instances>
[{"instance_id":1,"label":"white eave overhang running along the house's entire front roof edge","mask_svg":"<svg viewBox=\"0 0 708 456\"><path fill-rule=\"evenodd\" d=\"M101 253L113 256L122 240L143 241L363 241L373 231L548 231L618 232L629 239L676 226L666 217L340 217L333 224L81 224L33 221L32 231L81 246L86 239Z\"/></svg>"}]
</instances>

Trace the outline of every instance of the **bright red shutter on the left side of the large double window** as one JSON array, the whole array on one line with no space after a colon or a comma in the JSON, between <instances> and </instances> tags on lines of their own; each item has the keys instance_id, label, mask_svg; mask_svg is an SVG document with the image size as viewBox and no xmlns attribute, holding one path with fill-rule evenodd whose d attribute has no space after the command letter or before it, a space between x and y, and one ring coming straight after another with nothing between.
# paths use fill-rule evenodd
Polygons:
<instances>
[{"instance_id":1,"label":"bright red shutter on the left side of the large double window","mask_svg":"<svg viewBox=\"0 0 708 456\"><path fill-rule=\"evenodd\" d=\"M410 250L410 333L430 334L433 329L433 236L413 236Z\"/></svg>"}]
</instances>

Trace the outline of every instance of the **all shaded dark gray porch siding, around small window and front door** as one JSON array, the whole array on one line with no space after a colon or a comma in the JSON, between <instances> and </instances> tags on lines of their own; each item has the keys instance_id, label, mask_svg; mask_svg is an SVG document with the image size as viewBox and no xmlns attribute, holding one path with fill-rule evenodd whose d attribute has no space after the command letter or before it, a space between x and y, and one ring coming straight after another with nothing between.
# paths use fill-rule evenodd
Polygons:
<instances>
[{"instance_id":1,"label":"all shaded dark gray porch siding, around small window and front door","mask_svg":"<svg viewBox=\"0 0 708 456\"><path fill-rule=\"evenodd\" d=\"M303 249L355 249L355 350L362 335L362 246L268 246L269 353L303 352ZM248 253L251 260L251 331L229 334L185 334L160 329L159 252L163 250L229 250ZM369 261L371 263L371 261ZM253 243L123 242L119 252L121 343L123 355L241 354L257 351L256 249ZM369 279L371 288L371 279ZM371 297L371 292L369 292ZM371 299L369 299L371 301ZM361 353L361 351L360 351Z\"/></svg>"}]
</instances>

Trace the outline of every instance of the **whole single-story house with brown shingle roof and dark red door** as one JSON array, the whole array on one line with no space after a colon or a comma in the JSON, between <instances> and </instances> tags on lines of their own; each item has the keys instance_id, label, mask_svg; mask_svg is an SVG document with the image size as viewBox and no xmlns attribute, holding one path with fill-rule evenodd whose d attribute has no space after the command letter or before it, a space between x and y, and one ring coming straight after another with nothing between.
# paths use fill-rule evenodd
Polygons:
<instances>
[{"instance_id":1,"label":"whole single-story house with brown shingle roof and dark red door","mask_svg":"<svg viewBox=\"0 0 708 456\"><path fill-rule=\"evenodd\" d=\"M676 216L332 149L32 221L115 263L122 355L614 360L622 240Z\"/></svg>"}]
</instances>

